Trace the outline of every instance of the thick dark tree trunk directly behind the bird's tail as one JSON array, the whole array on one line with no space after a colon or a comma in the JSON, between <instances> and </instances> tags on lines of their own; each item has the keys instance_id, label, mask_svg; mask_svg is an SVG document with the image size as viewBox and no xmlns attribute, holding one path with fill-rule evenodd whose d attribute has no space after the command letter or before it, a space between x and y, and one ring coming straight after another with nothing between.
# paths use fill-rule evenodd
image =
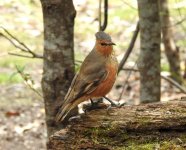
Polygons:
<instances>
[{"instance_id":1,"label":"thick dark tree trunk directly behind the bird's tail","mask_svg":"<svg viewBox=\"0 0 186 150\"><path fill-rule=\"evenodd\" d=\"M55 122L57 107L74 77L74 18L72 0L41 0L44 21L42 89L48 136L63 127Z\"/></svg>"}]
</instances>

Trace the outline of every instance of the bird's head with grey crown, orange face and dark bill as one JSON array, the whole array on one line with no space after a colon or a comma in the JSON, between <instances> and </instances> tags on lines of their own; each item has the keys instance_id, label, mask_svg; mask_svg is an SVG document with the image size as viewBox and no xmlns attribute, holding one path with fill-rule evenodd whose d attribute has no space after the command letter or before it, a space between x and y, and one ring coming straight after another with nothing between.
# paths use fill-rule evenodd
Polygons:
<instances>
[{"instance_id":1,"label":"bird's head with grey crown, orange face and dark bill","mask_svg":"<svg viewBox=\"0 0 186 150\"><path fill-rule=\"evenodd\" d=\"M104 56L109 56L112 54L113 45L111 37L103 31L99 31L95 34L96 36L96 50L99 51Z\"/></svg>"}]
</instances>

